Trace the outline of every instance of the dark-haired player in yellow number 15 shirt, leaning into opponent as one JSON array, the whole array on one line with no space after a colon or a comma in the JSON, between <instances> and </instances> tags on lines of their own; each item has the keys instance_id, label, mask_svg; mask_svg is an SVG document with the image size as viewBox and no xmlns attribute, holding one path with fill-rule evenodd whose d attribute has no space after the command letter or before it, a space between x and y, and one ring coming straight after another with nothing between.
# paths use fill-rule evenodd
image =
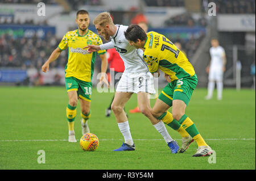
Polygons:
<instances>
[{"instance_id":1,"label":"dark-haired player in yellow number 15 shirt, leaning into opponent","mask_svg":"<svg viewBox=\"0 0 256 181\"><path fill-rule=\"evenodd\" d=\"M199 148L193 157L212 154L193 121L185 115L185 108L197 85L197 76L188 58L164 35L153 31L145 33L138 25L129 26L125 37L135 48L143 49L143 60L149 71L159 76L159 70L162 70L169 82L156 100L152 115L180 133L180 153L195 140ZM171 106L172 113L168 112Z\"/></svg>"}]
</instances>

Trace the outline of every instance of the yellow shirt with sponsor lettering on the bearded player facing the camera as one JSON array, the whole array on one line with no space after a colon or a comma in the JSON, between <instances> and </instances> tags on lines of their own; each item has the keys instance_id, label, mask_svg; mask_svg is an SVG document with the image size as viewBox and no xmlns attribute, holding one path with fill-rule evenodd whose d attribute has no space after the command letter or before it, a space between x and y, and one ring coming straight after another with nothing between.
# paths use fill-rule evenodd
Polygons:
<instances>
[{"instance_id":1,"label":"yellow shirt with sponsor lettering on the bearded player facing the camera","mask_svg":"<svg viewBox=\"0 0 256 181\"><path fill-rule=\"evenodd\" d=\"M88 53L82 48L86 45L101 44L101 38L90 30L84 36L80 36L78 30L67 32L58 46L61 50L68 48L65 77L75 77L81 81L90 82L93 76L96 52ZM103 54L106 53L106 50L99 50L97 53Z\"/></svg>"}]
</instances>

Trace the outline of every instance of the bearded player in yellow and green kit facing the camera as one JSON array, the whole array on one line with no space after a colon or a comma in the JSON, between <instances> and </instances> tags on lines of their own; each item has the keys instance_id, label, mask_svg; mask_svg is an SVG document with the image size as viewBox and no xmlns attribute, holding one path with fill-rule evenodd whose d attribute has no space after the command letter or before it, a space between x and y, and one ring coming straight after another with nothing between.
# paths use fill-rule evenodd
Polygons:
<instances>
[{"instance_id":1,"label":"bearded player in yellow and green kit facing the camera","mask_svg":"<svg viewBox=\"0 0 256 181\"><path fill-rule=\"evenodd\" d=\"M51 56L42 66L42 71L49 69L49 64L59 57L60 53L68 48L68 63L65 66L65 85L68 92L68 106L66 115L69 128L69 142L76 142L74 121L76 117L77 100L80 100L81 107L81 125L82 134L89 132L87 120L90 117L90 102L92 95L92 77L94 70L94 62L96 60L96 52L88 53L83 50L85 44L100 45L101 38L88 29L89 26L88 11L79 10L76 15L76 23L78 29L67 32L61 40L59 46L52 52ZM97 52L101 58L101 79L108 85L105 78L106 69L108 68L108 60L106 58L106 50Z\"/></svg>"}]
</instances>

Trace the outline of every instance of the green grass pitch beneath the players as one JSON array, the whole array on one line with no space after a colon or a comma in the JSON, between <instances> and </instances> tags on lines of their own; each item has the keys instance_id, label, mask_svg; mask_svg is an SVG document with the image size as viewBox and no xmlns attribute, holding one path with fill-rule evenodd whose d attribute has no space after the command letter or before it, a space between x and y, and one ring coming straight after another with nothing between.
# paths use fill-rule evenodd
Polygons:
<instances>
[{"instance_id":1,"label":"green grass pitch beneath the players","mask_svg":"<svg viewBox=\"0 0 256 181\"><path fill-rule=\"evenodd\" d=\"M206 89L196 89L186 114L196 124L216 152L216 163L209 157L192 157L193 142L183 154L171 154L162 136L141 113L129 113L129 124L136 150L115 152L123 137L114 114L105 117L113 93L93 89L90 131L100 145L96 151L83 151L79 141L69 143L65 108L65 87L0 87L0 169L85 169L85 170L182 170L255 169L255 91L224 89L221 101L204 100ZM155 100L151 100L151 106ZM126 110L137 106L133 95ZM170 109L171 111L171 109ZM76 139L82 136L80 106L75 120ZM181 145L181 137L167 127ZM44 150L46 163L38 163ZM213 161L213 159L211 159Z\"/></svg>"}]
</instances>

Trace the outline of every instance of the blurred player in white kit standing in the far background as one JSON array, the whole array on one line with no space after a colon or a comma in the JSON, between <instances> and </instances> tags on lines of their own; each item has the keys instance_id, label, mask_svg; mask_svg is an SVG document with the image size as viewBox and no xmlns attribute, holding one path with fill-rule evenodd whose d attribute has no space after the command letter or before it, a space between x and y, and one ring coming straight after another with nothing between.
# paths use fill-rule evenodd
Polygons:
<instances>
[{"instance_id":1,"label":"blurred player in white kit standing in the far background","mask_svg":"<svg viewBox=\"0 0 256 181\"><path fill-rule=\"evenodd\" d=\"M223 73L226 65L226 54L224 48L222 48L217 39L210 41L212 47L210 48L210 65L207 66L207 72L209 73L208 82L208 94L205 99L212 99L213 90L216 82L217 87L217 99L222 99L223 90Z\"/></svg>"}]
</instances>

